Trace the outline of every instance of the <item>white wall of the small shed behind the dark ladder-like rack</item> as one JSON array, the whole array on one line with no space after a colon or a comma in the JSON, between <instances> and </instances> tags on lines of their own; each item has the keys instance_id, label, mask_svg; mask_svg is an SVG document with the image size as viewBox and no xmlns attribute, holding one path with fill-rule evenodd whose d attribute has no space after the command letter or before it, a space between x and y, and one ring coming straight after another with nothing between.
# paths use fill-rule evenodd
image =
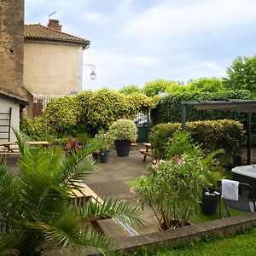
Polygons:
<instances>
[{"instance_id":1,"label":"white wall of the small shed behind the dark ladder-like rack","mask_svg":"<svg viewBox=\"0 0 256 256\"><path fill-rule=\"evenodd\" d=\"M12 108L11 126L19 131L20 130L20 104L3 99L0 97L0 113L8 112L9 108ZM5 115L6 117L7 115ZM3 114L0 114L0 119L3 119ZM8 125L9 121L0 121L0 125ZM0 131L8 131L6 127L0 126ZM3 135L3 134L2 134ZM2 137L1 135L1 137ZM0 141L8 141L8 139L1 139ZM16 137L13 131L11 131L10 141L16 141Z\"/></svg>"}]
</instances>

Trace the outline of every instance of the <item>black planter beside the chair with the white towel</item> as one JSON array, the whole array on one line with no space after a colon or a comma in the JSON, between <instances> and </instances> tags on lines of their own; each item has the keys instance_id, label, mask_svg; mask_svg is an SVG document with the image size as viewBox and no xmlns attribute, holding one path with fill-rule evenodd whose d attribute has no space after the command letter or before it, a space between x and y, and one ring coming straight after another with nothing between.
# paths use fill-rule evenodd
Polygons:
<instances>
[{"instance_id":1,"label":"black planter beside the chair with the white towel","mask_svg":"<svg viewBox=\"0 0 256 256\"><path fill-rule=\"evenodd\" d=\"M204 193L201 201L201 212L206 215L214 215L218 209L220 197L221 195L217 191Z\"/></svg>"}]
</instances>

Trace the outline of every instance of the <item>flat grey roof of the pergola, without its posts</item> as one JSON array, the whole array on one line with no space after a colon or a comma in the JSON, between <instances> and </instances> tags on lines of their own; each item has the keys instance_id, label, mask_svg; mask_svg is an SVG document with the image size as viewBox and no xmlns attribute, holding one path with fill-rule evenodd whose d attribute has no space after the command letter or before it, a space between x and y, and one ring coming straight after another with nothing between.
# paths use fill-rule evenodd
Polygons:
<instances>
[{"instance_id":1,"label":"flat grey roof of the pergola, without its posts","mask_svg":"<svg viewBox=\"0 0 256 256\"><path fill-rule=\"evenodd\" d=\"M182 105L194 106L200 110L223 110L223 111L235 111L238 113L256 113L256 100L233 100L228 102L181 102Z\"/></svg>"}]
</instances>

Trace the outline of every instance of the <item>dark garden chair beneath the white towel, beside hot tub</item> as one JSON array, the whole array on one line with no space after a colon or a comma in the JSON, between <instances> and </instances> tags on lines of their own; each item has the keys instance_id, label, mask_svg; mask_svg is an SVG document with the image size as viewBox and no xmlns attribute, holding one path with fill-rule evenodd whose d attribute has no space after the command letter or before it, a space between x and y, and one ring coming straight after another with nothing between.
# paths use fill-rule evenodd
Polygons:
<instances>
[{"instance_id":1,"label":"dark garden chair beneath the white towel, beside hot tub","mask_svg":"<svg viewBox=\"0 0 256 256\"><path fill-rule=\"evenodd\" d=\"M222 193L223 186L222 181L218 181L219 191ZM235 209L242 212L254 212L255 208L255 200L250 198L252 191L252 187L247 183L238 183L238 200L230 200L229 198L225 198L222 195L222 199L224 201L225 212L223 218L228 214L230 217L229 209ZM220 210L221 212L221 210Z\"/></svg>"}]
</instances>

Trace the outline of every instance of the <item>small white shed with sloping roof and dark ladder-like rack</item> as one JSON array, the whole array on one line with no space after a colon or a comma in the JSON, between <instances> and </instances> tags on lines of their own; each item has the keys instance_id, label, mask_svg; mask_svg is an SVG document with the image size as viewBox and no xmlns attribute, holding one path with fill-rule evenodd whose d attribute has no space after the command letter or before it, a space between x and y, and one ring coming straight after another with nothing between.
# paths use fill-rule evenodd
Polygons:
<instances>
[{"instance_id":1,"label":"small white shed with sloping roof and dark ladder-like rack","mask_svg":"<svg viewBox=\"0 0 256 256\"><path fill-rule=\"evenodd\" d=\"M28 105L26 99L0 90L0 142L15 141L11 127L19 131L20 113Z\"/></svg>"}]
</instances>

